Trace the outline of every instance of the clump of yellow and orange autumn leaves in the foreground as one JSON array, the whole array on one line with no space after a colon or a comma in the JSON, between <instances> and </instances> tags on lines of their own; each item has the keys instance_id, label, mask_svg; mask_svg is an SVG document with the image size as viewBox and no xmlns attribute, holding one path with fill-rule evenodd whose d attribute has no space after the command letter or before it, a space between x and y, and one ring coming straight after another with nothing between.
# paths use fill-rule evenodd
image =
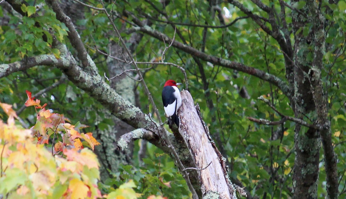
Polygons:
<instances>
[{"instance_id":1,"label":"clump of yellow and orange autumn leaves in the foreground","mask_svg":"<svg viewBox=\"0 0 346 199\"><path fill-rule=\"evenodd\" d=\"M47 104L41 106L31 92L27 91L27 96L25 105L34 106L37 112L31 129L18 127L12 106L0 102L8 115L7 123L0 120L0 198L139 197L133 181L102 196L97 186L99 162L90 149L84 148L93 150L99 142L92 133L80 133L87 126L79 122L71 125L63 115L46 110ZM52 135L54 147L50 150L47 146ZM62 141L54 144L55 135L61 135Z\"/></svg>"}]
</instances>

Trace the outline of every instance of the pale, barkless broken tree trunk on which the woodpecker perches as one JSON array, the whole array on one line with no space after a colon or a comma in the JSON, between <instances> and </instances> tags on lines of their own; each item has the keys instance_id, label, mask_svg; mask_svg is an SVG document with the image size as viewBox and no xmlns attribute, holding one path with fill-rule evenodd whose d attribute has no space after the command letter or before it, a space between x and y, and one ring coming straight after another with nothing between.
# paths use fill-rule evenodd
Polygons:
<instances>
[{"instance_id":1,"label":"pale, barkless broken tree trunk on which the woodpecker perches","mask_svg":"<svg viewBox=\"0 0 346 199\"><path fill-rule=\"evenodd\" d=\"M180 94L183 103L178 110L179 132L198 169L203 198L236 198L236 190L228 178L225 160L209 136L209 130L200 116L199 106L194 106L188 91L183 90Z\"/></svg>"}]
</instances>

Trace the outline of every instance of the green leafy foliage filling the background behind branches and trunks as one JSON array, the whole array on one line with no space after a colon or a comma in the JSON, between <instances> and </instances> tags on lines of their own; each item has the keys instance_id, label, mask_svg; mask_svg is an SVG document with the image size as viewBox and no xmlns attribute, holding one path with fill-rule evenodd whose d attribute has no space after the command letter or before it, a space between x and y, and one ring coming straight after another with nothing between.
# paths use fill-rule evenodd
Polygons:
<instances>
[{"instance_id":1,"label":"green leafy foliage filling the background behind branches and trunks","mask_svg":"<svg viewBox=\"0 0 346 199\"><path fill-rule=\"evenodd\" d=\"M21 6L24 16L6 7L0 7L0 63L7 64L39 54L54 54L60 58L60 50L52 48L52 34L59 42L67 45L73 55L67 39L67 27L56 19L55 13L42 0L26 1L30 6ZM237 61L261 69L265 72L286 81L284 54L279 44L246 14L239 11L229 2L218 2L219 8L226 8L220 12L224 23L216 17L217 11L211 11L212 1L106 1L106 8L113 9L112 17L121 36L128 41L136 27L135 19L149 21L150 27L160 31L170 38L175 37L179 42L186 43L203 52ZM254 14L266 17L266 13L250 1L239 1ZM326 26L326 51L323 57L322 82L326 98L328 98L328 117L331 121L332 141L338 157L337 175L339 181L340 198L346 197L345 191L345 23L346 3L339 1L329 4L320 1L322 12L333 10L332 14L325 14L327 21L333 21ZM77 4L70 2L72 4ZM90 5L101 8L99 1L90 0ZM164 6L164 4L166 5ZM264 4L273 5L280 12L280 5L265 0ZM289 2L292 7L302 9L306 1ZM35 4L35 6L34 6ZM77 4L78 5L78 4ZM74 8L76 9L76 8ZM79 5L78 12L82 17L72 18L80 37L95 62L101 76L109 76L107 56L101 54L109 52L109 43L118 42L113 35L107 16L101 11L89 9ZM163 14L162 11L165 14ZM285 20L292 22L292 9L285 8ZM239 17L244 17L238 20ZM237 21L228 27L224 26L233 20ZM179 30L175 32L170 23L174 23ZM181 25L183 24L183 25ZM191 24L191 25L185 25ZM205 29L203 26L215 28ZM201 27L202 26L202 27ZM311 27L301 28L300 32L308 36ZM292 43L295 34L290 28ZM300 33L299 32L299 33ZM51 34L52 33L52 34ZM203 38L205 35L205 38ZM168 45L166 43L166 45ZM96 49L96 48L97 49ZM148 34L144 34L133 52L138 61L157 62L165 43ZM98 51L99 50L99 51ZM304 49L301 53L306 53ZM307 54L309 57L309 53ZM289 99L277 87L251 76L225 67L220 67L200 61L202 68L190 53L170 47L165 53L165 60L182 66L189 80L189 91L195 103L199 103L204 121L208 124L211 136L222 154L227 158L229 175L233 182L244 186L251 197L290 198L292 197L292 173L294 166L294 127L295 123L286 121L278 126L258 125L249 121L247 117L263 118L278 121L281 116L266 105L258 97L262 96L280 111L283 115L294 116ZM145 81L152 92L155 103L161 105L161 89L167 79L184 82L181 71L169 65L141 64L141 68L153 67L144 73ZM57 83L60 82L60 83ZM287 81L286 81L287 82ZM57 83L54 88L47 87ZM51 66L37 66L22 72L12 73L0 79L0 101L13 105L28 127L34 126L36 113L25 108L27 97L25 90L38 93L46 89L37 98L47 103L54 112L63 113L71 123L80 121L88 125L88 132L102 131L112 128L115 124L104 110L102 104L91 98L89 94L77 88L74 83L66 80L61 70ZM154 111L148 103L148 98L140 84L136 82L136 91L139 92L139 104L143 112L152 114ZM181 88L183 89L183 88ZM242 92L241 92L242 90ZM246 92L245 92L246 91ZM244 92L246 94L244 94ZM149 106L149 108L148 108ZM160 109L164 117L163 109ZM0 112L3 120L7 116ZM307 119L308 118L308 119ZM305 119L314 120L316 113L307 113ZM309 121L310 122L310 121ZM308 130L302 126L303 132ZM275 137L279 135L279 137ZM98 139L98 138L96 138ZM146 156L138 158L140 146L145 144ZM99 147L99 146L97 146ZM321 149L323 150L323 149ZM317 197L326 196L326 174L324 167L324 153L319 155L319 173ZM168 198L188 198L189 191L186 183L174 166L174 161L163 151L150 143L135 141L131 165L123 165L117 171L111 171L112 178L102 179L102 191L108 191L109 186L119 187L123 182L133 179L137 193L143 197L163 195ZM165 184L168 183L168 184Z\"/></svg>"}]
</instances>

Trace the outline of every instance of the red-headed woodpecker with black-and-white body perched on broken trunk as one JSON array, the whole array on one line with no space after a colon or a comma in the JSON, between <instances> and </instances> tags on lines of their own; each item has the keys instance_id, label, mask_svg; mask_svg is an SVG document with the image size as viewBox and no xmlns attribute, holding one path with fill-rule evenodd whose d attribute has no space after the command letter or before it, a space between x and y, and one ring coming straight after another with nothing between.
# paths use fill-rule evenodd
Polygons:
<instances>
[{"instance_id":1,"label":"red-headed woodpecker with black-and-white body perched on broken trunk","mask_svg":"<svg viewBox=\"0 0 346 199\"><path fill-rule=\"evenodd\" d=\"M162 90L162 102L170 126L174 122L179 127L179 117L176 115L176 112L181 106L181 97L180 91L176 86L180 84L174 80L167 80Z\"/></svg>"}]
</instances>

